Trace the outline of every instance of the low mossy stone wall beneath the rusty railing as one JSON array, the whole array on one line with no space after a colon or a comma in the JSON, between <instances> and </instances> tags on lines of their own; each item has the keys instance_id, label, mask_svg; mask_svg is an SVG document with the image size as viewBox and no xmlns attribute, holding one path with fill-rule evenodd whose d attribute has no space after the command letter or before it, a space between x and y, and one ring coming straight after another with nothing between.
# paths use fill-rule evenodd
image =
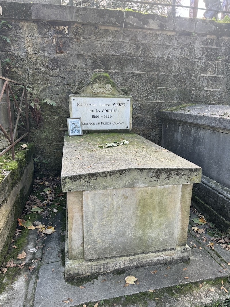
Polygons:
<instances>
[{"instance_id":1,"label":"low mossy stone wall beneath the rusty railing","mask_svg":"<svg viewBox=\"0 0 230 307\"><path fill-rule=\"evenodd\" d=\"M34 146L28 143L28 150L24 151L20 146L15 146L15 150L20 151L20 158L16 158L13 162L9 160L10 165L6 159L3 160L6 161L5 167L11 170L2 172L0 176L0 265L17 227L17 218L21 217L33 185ZM8 157L5 154L3 158L5 156Z\"/></svg>"}]
</instances>

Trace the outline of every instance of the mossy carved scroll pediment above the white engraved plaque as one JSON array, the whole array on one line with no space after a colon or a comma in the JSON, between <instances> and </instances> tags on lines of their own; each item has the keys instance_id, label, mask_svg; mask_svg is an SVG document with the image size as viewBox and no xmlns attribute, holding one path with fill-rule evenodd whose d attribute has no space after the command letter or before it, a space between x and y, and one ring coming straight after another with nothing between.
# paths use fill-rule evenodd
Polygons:
<instances>
[{"instance_id":1,"label":"mossy carved scroll pediment above the white engraved plaque","mask_svg":"<svg viewBox=\"0 0 230 307\"><path fill-rule=\"evenodd\" d=\"M94 73L91 80L84 85L73 84L70 88L73 94L113 94L128 95L130 87L119 87L107 73Z\"/></svg>"}]
</instances>

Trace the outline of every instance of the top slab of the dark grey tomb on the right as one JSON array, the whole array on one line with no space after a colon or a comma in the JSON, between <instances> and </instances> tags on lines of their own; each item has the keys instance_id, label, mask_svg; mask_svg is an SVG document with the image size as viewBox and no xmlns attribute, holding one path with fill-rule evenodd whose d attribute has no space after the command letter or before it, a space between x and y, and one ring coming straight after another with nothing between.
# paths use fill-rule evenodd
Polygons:
<instances>
[{"instance_id":1,"label":"top slab of the dark grey tomb on the right","mask_svg":"<svg viewBox=\"0 0 230 307\"><path fill-rule=\"evenodd\" d=\"M164 119L177 120L203 128L217 128L230 133L230 106L195 104L177 106L162 110L159 116ZM216 130L217 130L216 129Z\"/></svg>"}]
</instances>

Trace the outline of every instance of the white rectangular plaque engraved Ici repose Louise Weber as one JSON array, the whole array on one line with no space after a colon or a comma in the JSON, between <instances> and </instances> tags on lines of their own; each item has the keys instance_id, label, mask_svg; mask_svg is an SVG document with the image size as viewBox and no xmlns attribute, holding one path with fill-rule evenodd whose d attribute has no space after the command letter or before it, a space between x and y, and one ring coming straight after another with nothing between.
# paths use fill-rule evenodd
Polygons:
<instances>
[{"instance_id":1,"label":"white rectangular plaque engraved Ici repose Louise Weber","mask_svg":"<svg viewBox=\"0 0 230 307\"><path fill-rule=\"evenodd\" d=\"M130 96L70 95L70 117L81 117L82 130L128 130L132 128Z\"/></svg>"}]
</instances>

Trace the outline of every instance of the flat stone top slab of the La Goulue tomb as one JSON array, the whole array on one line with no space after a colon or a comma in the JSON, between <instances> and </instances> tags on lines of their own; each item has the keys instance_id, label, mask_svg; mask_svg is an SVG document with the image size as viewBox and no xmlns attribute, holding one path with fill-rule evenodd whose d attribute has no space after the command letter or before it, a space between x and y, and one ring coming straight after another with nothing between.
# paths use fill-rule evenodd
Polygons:
<instances>
[{"instance_id":1,"label":"flat stone top slab of the La Goulue tomb","mask_svg":"<svg viewBox=\"0 0 230 307\"><path fill-rule=\"evenodd\" d=\"M89 191L199 183L201 167L135 133L66 134L61 176L63 192Z\"/></svg>"}]
</instances>

